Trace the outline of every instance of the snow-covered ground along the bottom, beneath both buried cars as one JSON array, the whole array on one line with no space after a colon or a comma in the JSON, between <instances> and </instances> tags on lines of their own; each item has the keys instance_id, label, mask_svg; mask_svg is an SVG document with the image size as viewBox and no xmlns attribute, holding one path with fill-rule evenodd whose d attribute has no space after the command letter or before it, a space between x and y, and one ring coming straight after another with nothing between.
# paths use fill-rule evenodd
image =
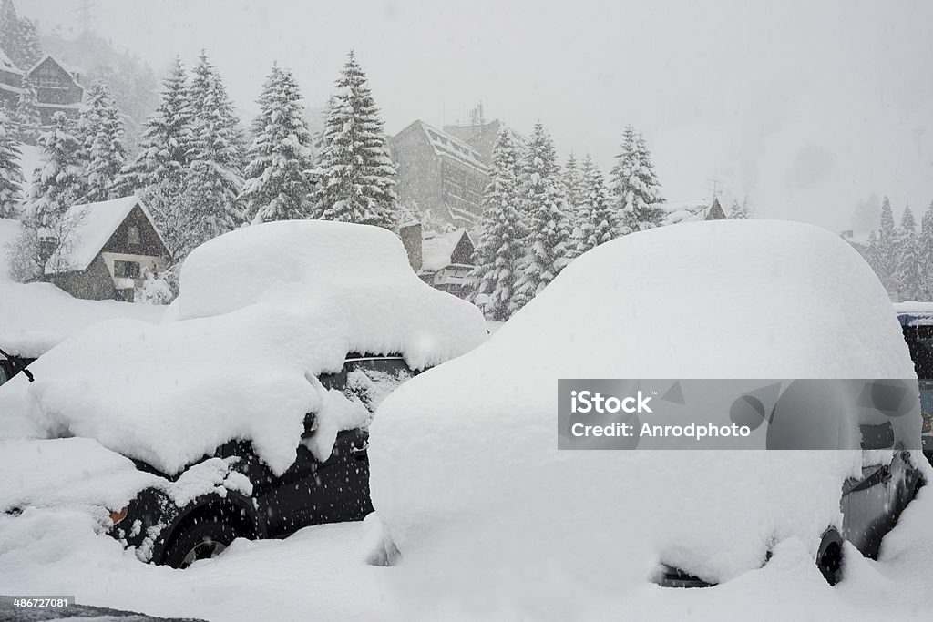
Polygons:
<instances>
[{"instance_id":1,"label":"snow-covered ground along the bottom, beneath both buried cars","mask_svg":"<svg viewBox=\"0 0 933 622\"><path fill-rule=\"evenodd\" d=\"M361 523L311 527L282 541L237 540L216 560L175 571L137 561L85 514L30 510L0 516L0 593L74 594L78 602L208 620L929 620L933 487L920 491L884 541L881 559L846 558L829 587L798 540L780 543L764 568L718 587L671 589L567 583L545 609L521 582L508 600L445 600L411 581L404 565L363 561ZM542 543L547 547L547 543ZM481 574L484 569L464 569ZM541 574L548 574L542 566ZM453 584L463 576L445 574ZM754 612L750 614L750 612Z\"/></svg>"}]
</instances>

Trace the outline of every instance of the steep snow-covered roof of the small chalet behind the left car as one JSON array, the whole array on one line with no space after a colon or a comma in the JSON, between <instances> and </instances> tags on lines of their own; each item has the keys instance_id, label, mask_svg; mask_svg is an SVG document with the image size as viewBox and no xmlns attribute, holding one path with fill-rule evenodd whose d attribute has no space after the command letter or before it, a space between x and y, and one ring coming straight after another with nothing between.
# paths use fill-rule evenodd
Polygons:
<instances>
[{"instance_id":1,"label":"steep snow-covered roof of the small chalet behind the left car","mask_svg":"<svg viewBox=\"0 0 933 622\"><path fill-rule=\"evenodd\" d=\"M146 210L146 205L138 197L121 197L120 199L102 200L97 203L73 205L65 213L65 218L76 223L74 237L70 248L57 251L49 257L46 264L46 274L56 272L72 272L87 269L94 257L101 252L101 248L110 236L114 234L133 208L139 206L152 223L152 216ZM159 229L153 228L159 233ZM161 234L159 234L161 237ZM162 244L165 241L162 240ZM166 245L167 247L167 245Z\"/></svg>"}]
</instances>

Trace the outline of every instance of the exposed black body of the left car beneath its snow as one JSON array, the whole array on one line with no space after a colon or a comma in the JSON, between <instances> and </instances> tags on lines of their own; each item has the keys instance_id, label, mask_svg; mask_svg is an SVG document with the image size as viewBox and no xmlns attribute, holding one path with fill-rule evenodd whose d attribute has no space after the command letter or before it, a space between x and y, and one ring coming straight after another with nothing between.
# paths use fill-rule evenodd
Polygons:
<instances>
[{"instance_id":1,"label":"exposed black body of the left car beneath its snow","mask_svg":"<svg viewBox=\"0 0 933 622\"><path fill-rule=\"evenodd\" d=\"M371 412L384 394L412 375L399 356L352 355L339 373L319 380L325 388L359 400ZM315 434L316 423L309 413L303 438ZM216 556L236 537L280 538L310 525L362 519L372 511L368 439L363 428L341 431L324 462L299 444L295 463L280 476L258 458L249 441L230 441L204 460L230 459L231 468L251 483L248 495L224 489L178 505L165 491L148 488L111 515L110 533L134 547L141 560L184 568L194 560ZM166 479L177 480L184 473L167 477L146 463L134 462L137 468Z\"/></svg>"}]
</instances>

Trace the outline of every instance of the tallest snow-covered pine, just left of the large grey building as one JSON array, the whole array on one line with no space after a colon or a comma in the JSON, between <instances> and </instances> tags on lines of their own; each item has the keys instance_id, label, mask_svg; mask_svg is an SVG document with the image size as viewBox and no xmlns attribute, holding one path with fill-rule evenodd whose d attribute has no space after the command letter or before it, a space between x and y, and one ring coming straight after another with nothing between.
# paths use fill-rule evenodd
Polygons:
<instances>
[{"instance_id":1,"label":"tallest snow-covered pine, just left of the large grey building","mask_svg":"<svg viewBox=\"0 0 933 622\"><path fill-rule=\"evenodd\" d=\"M385 146L379 108L353 51L328 105L316 164L315 215L396 226L395 166Z\"/></svg>"}]
</instances>

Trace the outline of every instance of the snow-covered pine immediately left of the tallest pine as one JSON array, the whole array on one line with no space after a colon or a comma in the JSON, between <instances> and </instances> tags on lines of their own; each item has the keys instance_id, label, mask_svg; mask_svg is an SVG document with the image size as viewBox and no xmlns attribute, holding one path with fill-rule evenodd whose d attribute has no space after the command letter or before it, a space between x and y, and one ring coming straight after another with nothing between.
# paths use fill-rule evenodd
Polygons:
<instances>
[{"instance_id":1,"label":"snow-covered pine immediately left of the tallest pine","mask_svg":"<svg viewBox=\"0 0 933 622\"><path fill-rule=\"evenodd\" d=\"M253 121L240 200L254 223L305 218L312 191L313 137L295 78L272 65Z\"/></svg>"}]
</instances>

